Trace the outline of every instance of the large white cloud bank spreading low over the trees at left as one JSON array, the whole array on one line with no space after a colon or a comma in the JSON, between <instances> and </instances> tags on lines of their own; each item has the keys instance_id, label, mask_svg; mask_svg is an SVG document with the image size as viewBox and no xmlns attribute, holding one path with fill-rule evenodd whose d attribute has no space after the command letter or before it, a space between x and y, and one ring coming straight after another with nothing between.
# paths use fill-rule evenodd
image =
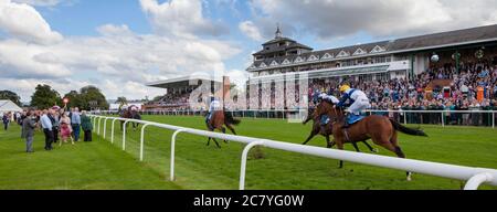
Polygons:
<instances>
[{"instance_id":1,"label":"large white cloud bank spreading low over the trees at left","mask_svg":"<svg viewBox=\"0 0 497 212\"><path fill-rule=\"evenodd\" d=\"M154 97L163 91L145 83L224 72L223 60L240 52L226 41L136 34L125 24L102 25L97 36L63 38L31 6L0 0L0 30L9 35L0 40L1 88L19 93L23 102L38 84L49 84L61 95L96 85L107 98ZM28 21L12 22L14 17Z\"/></svg>"}]
</instances>

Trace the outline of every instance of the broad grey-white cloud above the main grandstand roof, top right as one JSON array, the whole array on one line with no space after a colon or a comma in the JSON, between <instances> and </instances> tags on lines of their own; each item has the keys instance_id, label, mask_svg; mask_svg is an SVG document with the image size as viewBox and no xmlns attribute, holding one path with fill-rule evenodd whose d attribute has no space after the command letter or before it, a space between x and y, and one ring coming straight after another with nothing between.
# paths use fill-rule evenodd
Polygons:
<instances>
[{"instance_id":1,"label":"broad grey-white cloud above the main grandstand roof, top right","mask_svg":"<svg viewBox=\"0 0 497 212\"><path fill-rule=\"evenodd\" d=\"M275 22L298 29L286 33L314 33L320 39L360 32L413 35L497 22L497 0L253 0L250 4L265 38L274 32Z\"/></svg>"}]
</instances>

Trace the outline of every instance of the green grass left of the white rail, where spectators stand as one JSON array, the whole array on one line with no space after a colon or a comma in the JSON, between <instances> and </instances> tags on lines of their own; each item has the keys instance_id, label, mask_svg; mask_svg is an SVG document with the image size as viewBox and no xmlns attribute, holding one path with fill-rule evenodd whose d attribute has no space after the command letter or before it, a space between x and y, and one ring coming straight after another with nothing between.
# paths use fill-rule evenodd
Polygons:
<instances>
[{"instance_id":1,"label":"green grass left of the white rail, where spectators stand","mask_svg":"<svg viewBox=\"0 0 497 212\"><path fill-rule=\"evenodd\" d=\"M106 141L54 146L45 151L36 132L34 153L27 153L20 127L0 131L0 189L14 190L139 190L181 189Z\"/></svg>"}]
</instances>

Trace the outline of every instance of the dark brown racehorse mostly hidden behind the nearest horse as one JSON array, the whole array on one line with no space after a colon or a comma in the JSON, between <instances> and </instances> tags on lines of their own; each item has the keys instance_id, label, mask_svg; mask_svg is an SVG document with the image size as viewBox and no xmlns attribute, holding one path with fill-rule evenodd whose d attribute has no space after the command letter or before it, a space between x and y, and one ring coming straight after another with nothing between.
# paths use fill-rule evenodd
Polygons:
<instances>
[{"instance_id":1,"label":"dark brown racehorse mostly hidden behind the nearest horse","mask_svg":"<svg viewBox=\"0 0 497 212\"><path fill-rule=\"evenodd\" d=\"M320 124L319 116L316 116L315 112L316 112L316 109L309 109L307 119L305 119L303 123L304 125L306 125L308 121L313 120L313 129L310 130L310 135L309 135L309 137L307 137L306 141L304 141L303 145L307 145L307 142L309 142L310 139L313 139L316 135L319 134L326 138L326 145L327 145L326 147L331 148L335 145L335 141L331 142L329 140L329 136L334 134L332 123L329 121L322 126ZM366 140L362 140L361 142L364 144L371 152L378 152L378 150L373 149ZM359 147L357 146L357 142L352 142L352 146L356 149L356 151L360 152Z\"/></svg>"}]
</instances>

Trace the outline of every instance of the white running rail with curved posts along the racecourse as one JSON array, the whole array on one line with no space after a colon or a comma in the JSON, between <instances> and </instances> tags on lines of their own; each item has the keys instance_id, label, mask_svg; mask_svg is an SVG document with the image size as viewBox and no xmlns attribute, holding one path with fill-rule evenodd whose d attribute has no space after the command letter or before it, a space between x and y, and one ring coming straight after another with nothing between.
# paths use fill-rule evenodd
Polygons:
<instances>
[{"instance_id":1,"label":"white running rail with curved posts along the racecourse","mask_svg":"<svg viewBox=\"0 0 497 212\"><path fill-rule=\"evenodd\" d=\"M393 158L393 157L387 157L387 156L352 152L352 151L346 151L346 150L326 149L326 148L320 148L320 147L303 146L303 145L296 145L296 144L290 144L290 142L268 140L268 139L211 132L211 131L205 131L205 130L178 127L178 126L146 121L146 120L125 119L125 118L96 116L96 115L91 115L91 117L93 119L94 130L96 130L96 132L99 136L103 136L104 139L106 137L105 131L106 131L106 127L107 127L107 120L108 119L113 120L112 121L112 130L110 130L110 134L112 134L110 142L114 142L115 121L116 120L125 121L125 125L123 128L123 150L126 150L126 124L128 124L128 123L142 124L144 126L141 127L141 135L140 135L140 156L139 156L140 161L144 160L145 129L148 126L155 126L155 127L159 127L159 128L163 128L163 129L168 129L168 130L173 130L175 132L172 134L172 137L171 137L171 157L170 157L170 173L169 173L171 181L175 180L176 138L179 134L192 134L192 135L197 135L197 136L205 136L205 137L226 139L226 140L246 144L245 148L243 149L242 157L241 157L242 161L241 161L241 168L240 168L240 190L243 190L245 188L245 168L246 168L247 153L255 146L263 146L263 147L267 147L267 148L298 152L298 153L304 153L304 155L310 155L310 156L331 158L331 159L337 159L337 160L358 162L358 163L371 165L371 166L383 167L383 168L411 171L411 172L415 172L415 173L424 173L424 174L430 174L430 176L437 176L437 177L443 177L443 178L464 180L464 181L467 181L466 186L464 188L465 190L476 190L482 183L497 186L497 170L496 169L463 167L463 166L445 165L445 163L429 162L429 161L421 161L421 160L413 160L413 159L402 159L402 158ZM102 120L105 120L104 125L103 125L103 135L101 134Z\"/></svg>"}]
</instances>

